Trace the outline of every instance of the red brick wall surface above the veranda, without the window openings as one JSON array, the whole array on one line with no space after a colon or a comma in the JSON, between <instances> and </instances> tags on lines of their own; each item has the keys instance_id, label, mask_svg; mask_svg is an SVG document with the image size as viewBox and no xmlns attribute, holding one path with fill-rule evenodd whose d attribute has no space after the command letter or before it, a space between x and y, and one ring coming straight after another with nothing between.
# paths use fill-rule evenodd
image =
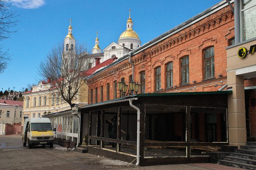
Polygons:
<instances>
[{"instance_id":1,"label":"red brick wall surface above the veranda, without the window openings","mask_svg":"<svg viewBox=\"0 0 256 170\"><path fill-rule=\"evenodd\" d=\"M145 71L145 93L217 91L227 81L226 47L234 37L233 12L229 6L205 17L191 26L178 31L166 39L144 48L131 57L134 64L134 81L140 83L140 73ZM145 45L146 46L146 45ZM204 49L214 46L215 74L211 79L205 79ZM189 84L181 84L181 58L189 56ZM173 87L166 87L166 64L173 63ZM155 68L161 67L161 89L156 91ZM88 93L93 90L95 103L95 88L98 88L100 102L100 86L103 86L103 100L107 100L106 85L110 84L110 99L114 99L113 82L125 78L128 84L132 75L132 67L128 57L122 62L116 62L99 74L87 79ZM218 85L214 87L214 85ZM117 90L119 97L119 91ZM91 103L89 95L88 102Z\"/></svg>"}]
</instances>

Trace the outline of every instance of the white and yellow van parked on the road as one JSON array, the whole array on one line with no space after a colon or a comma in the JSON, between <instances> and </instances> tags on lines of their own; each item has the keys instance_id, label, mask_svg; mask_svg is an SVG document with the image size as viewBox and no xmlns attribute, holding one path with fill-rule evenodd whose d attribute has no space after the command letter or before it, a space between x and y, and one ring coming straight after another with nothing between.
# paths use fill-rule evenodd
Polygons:
<instances>
[{"instance_id":1,"label":"white and yellow van parked on the road","mask_svg":"<svg viewBox=\"0 0 256 170\"><path fill-rule=\"evenodd\" d=\"M29 149L32 146L41 144L53 146L53 131L49 118L28 118L24 121L22 142L23 146L26 143L29 145Z\"/></svg>"}]
</instances>

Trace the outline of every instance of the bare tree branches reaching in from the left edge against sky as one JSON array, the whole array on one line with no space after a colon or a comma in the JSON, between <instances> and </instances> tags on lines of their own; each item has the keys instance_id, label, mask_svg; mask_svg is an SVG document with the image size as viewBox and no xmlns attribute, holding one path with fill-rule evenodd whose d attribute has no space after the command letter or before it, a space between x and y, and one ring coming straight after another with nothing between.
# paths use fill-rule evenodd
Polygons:
<instances>
[{"instance_id":1,"label":"bare tree branches reaching in from the left edge against sky","mask_svg":"<svg viewBox=\"0 0 256 170\"><path fill-rule=\"evenodd\" d=\"M11 31L10 28L16 26L17 17L16 12L9 11L9 0L0 0L0 41L3 41L10 37L10 34L16 31ZM0 74L7 68L10 56L6 51L3 51L2 45L0 45Z\"/></svg>"}]
</instances>

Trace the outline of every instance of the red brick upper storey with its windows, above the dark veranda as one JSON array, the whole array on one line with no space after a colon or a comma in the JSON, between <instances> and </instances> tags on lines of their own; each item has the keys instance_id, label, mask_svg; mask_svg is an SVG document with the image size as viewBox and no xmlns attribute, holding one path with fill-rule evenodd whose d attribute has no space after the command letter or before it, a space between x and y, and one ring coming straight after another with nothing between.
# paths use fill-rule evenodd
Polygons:
<instances>
[{"instance_id":1,"label":"red brick upper storey with its windows, above the dark veranda","mask_svg":"<svg viewBox=\"0 0 256 170\"><path fill-rule=\"evenodd\" d=\"M145 85L143 93L217 91L227 81L225 48L233 38L234 20L229 6L202 19L188 20L132 51L134 82ZM102 94L103 101L115 99L119 96L118 89L115 94L115 82L124 79L128 84L131 77L127 55L88 77L89 93L93 92L88 102L102 102L95 101Z\"/></svg>"}]
</instances>

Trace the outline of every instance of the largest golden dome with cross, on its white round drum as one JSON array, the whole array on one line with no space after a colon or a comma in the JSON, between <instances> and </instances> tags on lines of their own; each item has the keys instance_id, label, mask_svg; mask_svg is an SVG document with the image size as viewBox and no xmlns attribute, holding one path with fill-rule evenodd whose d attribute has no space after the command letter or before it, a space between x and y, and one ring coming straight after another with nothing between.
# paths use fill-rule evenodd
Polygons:
<instances>
[{"instance_id":1,"label":"largest golden dome with cross, on its white round drum","mask_svg":"<svg viewBox=\"0 0 256 170\"><path fill-rule=\"evenodd\" d=\"M131 8L129 18L126 22L126 30L122 32L117 43L131 50L140 47L141 41L138 34L133 30L133 21L131 19Z\"/></svg>"}]
</instances>

